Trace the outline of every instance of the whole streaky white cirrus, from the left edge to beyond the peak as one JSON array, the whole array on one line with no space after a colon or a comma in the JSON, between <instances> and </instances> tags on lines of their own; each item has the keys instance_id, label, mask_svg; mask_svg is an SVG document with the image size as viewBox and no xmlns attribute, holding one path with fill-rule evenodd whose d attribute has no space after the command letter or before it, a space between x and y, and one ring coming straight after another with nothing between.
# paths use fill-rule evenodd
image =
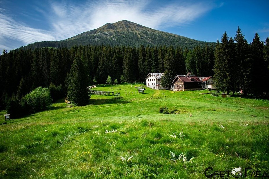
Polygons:
<instances>
[{"instance_id":1,"label":"whole streaky white cirrus, from the left edge to beyond the peak","mask_svg":"<svg viewBox=\"0 0 269 179\"><path fill-rule=\"evenodd\" d=\"M166 27L187 25L214 8L210 2L203 5L205 1L168 1L155 5L156 3L157 1L147 0L86 0L68 3L63 0L49 1L50 9L46 10L41 8L41 4L32 5L32 8L46 19L44 23L48 23L51 30L32 28L12 19L0 9L0 48L14 48L8 39L19 41L22 45L37 41L63 40L124 19L163 30Z\"/></svg>"}]
</instances>

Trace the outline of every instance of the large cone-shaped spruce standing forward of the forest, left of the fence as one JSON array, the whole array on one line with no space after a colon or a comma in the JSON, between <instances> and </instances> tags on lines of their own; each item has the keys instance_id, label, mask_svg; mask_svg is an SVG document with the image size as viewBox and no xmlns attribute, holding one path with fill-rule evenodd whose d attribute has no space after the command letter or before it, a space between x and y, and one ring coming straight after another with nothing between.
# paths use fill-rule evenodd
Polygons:
<instances>
[{"instance_id":1,"label":"large cone-shaped spruce standing forward of the forest, left of the fence","mask_svg":"<svg viewBox=\"0 0 269 179\"><path fill-rule=\"evenodd\" d=\"M67 96L69 101L78 106L88 104L86 73L81 59L76 56L67 80Z\"/></svg>"}]
</instances>

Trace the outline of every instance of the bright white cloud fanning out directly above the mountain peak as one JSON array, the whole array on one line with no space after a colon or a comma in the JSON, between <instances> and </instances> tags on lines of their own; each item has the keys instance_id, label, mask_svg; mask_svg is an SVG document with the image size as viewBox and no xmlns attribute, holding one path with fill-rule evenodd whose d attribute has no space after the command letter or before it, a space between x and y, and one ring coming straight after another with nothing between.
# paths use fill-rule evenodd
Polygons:
<instances>
[{"instance_id":1,"label":"bright white cloud fanning out directly above the mountain peak","mask_svg":"<svg viewBox=\"0 0 269 179\"><path fill-rule=\"evenodd\" d=\"M141 25L165 29L185 25L212 9L209 3L164 3L155 7L150 1L86 1L83 4L51 4L50 16L57 40L101 27L106 23L129 20Z\"/></svg>"}]
</instances>

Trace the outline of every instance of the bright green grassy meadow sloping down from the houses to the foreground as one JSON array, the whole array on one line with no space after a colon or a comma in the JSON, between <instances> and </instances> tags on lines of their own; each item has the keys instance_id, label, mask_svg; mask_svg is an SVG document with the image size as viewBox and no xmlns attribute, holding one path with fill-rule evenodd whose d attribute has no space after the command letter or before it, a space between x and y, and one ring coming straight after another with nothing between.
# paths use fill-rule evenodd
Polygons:
<instances>
[{"instance_id":1,"label":"bright green grassy meadow sloping down from the houses to the foreground","mask_svg":"<svg viewBox=\"0 0 269 179\"><path fill-rule=\"evenodd\" d=\"M92 95L72 108L62 99L10 121L1 111L0 178L206 178L208 167L207 175L233 178L225 171L236 166L243 176L251 167L247 178L269 175L268 100L141 94L130 84L94 90L120 97ZM174 114L160 114L165 106Z\"/></svg>"}]
</instances>

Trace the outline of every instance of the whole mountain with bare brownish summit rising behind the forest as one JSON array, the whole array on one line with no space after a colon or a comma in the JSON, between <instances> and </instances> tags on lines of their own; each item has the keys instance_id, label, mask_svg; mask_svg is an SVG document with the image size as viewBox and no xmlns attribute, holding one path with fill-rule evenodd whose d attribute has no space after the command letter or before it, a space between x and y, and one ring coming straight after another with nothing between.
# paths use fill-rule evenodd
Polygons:
<instances>
[{"instance_id":1,"label":"whole mountain with bare brownish summit rising behind the forest","mask_svg":"<svg viewBox=\"0 0 269 179\"><path fill-rule=\"evenodd\" d=\"M213 42L199 41L188 37L152 29L128 20L116 23L106 23L65 40L36 42L22 47L72 47L74 45L111 45L111 46L181 46L192 49L198 45L215 44Z\"/></svg>"}]
</instances>

